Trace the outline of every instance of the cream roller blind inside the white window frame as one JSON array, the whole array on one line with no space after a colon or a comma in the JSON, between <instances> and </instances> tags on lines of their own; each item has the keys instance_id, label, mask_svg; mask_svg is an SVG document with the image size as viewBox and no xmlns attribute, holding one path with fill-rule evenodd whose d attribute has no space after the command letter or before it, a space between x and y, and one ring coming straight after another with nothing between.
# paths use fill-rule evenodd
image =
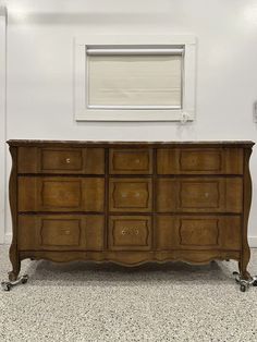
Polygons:
<instances>
[{"instance_id":1,"label":"cream roller blind inside the white window frame","mask_svg":"<svg viewBox=\"0 0 257 342\"><path fill-rule=\"evenodd\" d=\"M89 49L87 106L182 108L182 49Z\"/></svg>"}]
</instances>

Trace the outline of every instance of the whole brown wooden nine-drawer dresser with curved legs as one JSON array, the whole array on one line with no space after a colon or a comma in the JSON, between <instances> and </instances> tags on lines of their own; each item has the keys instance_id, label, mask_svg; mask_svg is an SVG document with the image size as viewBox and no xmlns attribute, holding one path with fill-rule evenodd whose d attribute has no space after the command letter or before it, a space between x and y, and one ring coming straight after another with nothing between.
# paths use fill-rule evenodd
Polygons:
<instances>
[{"instance_id":1,"label":"whole brown wooden nine-drawer dresser with curved legs","mask_svg":"<svg viewBox=\"0 0 257 342\"><path fill-rule=\"evenodd\" d=\"M10 280L25 258L235 259L249 277L252 142L8 144Z\"/></svg>"}]
</instances>

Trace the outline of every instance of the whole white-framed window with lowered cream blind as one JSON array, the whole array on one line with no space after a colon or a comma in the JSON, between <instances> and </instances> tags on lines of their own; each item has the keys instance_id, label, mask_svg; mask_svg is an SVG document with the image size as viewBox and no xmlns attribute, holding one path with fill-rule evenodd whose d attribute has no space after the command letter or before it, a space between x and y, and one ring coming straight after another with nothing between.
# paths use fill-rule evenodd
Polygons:
<instances>
[{"instance_id":1,"label":"whole white-framed window with lowered cream blind","mask_svg":"<svg viewBox=\"0 0 257 342\"><path fill-rule=\"evenodd\" d=\"M76 120L194 119L192 37L90 36L75 53Z\"/></svg>"}]
</instances>

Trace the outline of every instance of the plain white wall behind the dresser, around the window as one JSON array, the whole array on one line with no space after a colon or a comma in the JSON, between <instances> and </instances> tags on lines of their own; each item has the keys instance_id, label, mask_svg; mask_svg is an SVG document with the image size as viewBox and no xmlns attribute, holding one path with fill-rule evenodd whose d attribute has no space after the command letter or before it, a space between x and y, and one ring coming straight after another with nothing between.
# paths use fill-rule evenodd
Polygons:
<instances>
[{"instance_id":1,"label":"plain white wall behind the dresser, around the window","mask_svg":"<svg viewBox=\"0 0 257 342\"><path fill-rule=\"evenodd\" d=\"M9 0L8 138L256 139L257 1ZM197 37L196 121L77 123L73 38L83 34L193 34ZM257 154L249 222L257 246ZM10 159L7 163L10 169ZM5 233L10 234L8 215ZM254 239L255 237L255 239Z\"/></svg>"}]
</instances>

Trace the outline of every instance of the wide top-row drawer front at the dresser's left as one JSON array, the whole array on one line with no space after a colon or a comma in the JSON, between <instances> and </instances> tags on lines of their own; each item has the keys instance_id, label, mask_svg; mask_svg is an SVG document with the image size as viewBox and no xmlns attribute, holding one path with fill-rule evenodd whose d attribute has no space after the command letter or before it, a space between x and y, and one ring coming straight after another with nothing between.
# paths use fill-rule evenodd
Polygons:
<instances>
[{"instance_id":1,"label":"wide top-row drawer front at the dresser's left","mask_svg":"<svg viewBox=\"0 0 257 342\"><path fill-rule=\"evenodd\" d=\"M105 174L105 149L20 147L19 172Z\"/></svg>"}]
</instances>

